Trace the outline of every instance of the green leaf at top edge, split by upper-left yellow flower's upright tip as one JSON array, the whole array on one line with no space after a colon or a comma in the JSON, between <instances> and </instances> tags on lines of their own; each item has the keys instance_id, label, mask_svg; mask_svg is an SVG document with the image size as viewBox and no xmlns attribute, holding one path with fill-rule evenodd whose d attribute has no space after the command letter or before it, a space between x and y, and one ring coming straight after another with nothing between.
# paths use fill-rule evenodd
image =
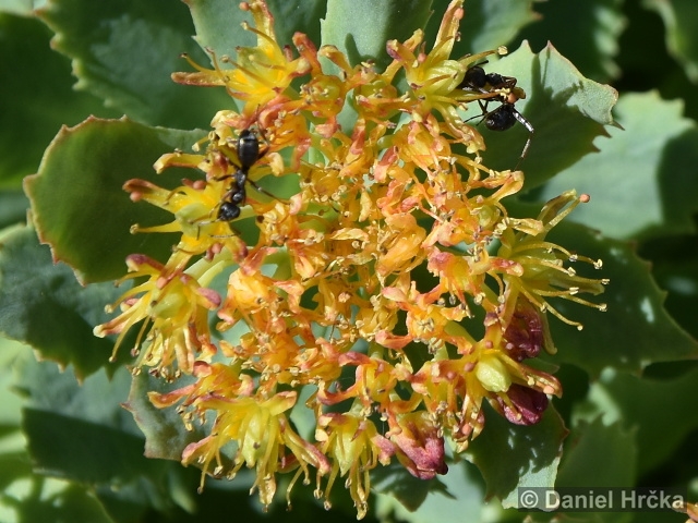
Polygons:
<instances>
[{"instance_id":1,"label":"green leaf at top edge, split by upper-left yellow flower's upright tip","mask_svg":"<svg viewBox=\"0 0 698 523\"><path fill-rule=\"evenodd\" d=\"M185 0L185 3L202 48L210 48L218 56L233 57L237 47L256 45L256 35L241 27L243 22L254 24L251 14L239 9L239 3L228 0ZM281 47L292 45L296 32L304 33L311 41L320 44L320 19L325 13L326 0L269 0L267 3Z\"/></svg>"}]
</instances>

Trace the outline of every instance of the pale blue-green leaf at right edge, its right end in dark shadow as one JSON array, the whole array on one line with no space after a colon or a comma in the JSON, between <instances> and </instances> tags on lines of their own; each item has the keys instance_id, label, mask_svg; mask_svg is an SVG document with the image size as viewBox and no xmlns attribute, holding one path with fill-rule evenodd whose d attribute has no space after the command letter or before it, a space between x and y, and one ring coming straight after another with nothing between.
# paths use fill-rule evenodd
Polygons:
<instances>
[{"instance_id":1,"label":"pale blue-green leaf at right edge, its right end in dark shadow","mask_svg":"<svg viewBox=\"0 0 698 523\"><path fill-rule=\"evenodd\" d=\"M598 143L600 154L562 172L537 197L570 187L588 193L591 203L571 219L610 236L693 232L698 126L682 112L681 101L662 100L655 92L623 96L617 119L625 131L612 130L612 139Z\"/></svg>"}]
</instances>

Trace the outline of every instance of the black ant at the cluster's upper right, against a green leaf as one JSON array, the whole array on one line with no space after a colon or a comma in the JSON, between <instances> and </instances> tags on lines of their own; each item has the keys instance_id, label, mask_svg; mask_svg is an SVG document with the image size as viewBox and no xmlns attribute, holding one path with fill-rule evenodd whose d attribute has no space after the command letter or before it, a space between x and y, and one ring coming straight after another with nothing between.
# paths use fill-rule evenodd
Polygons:
<instances>
[{"instance_id":1,"label":"black ant at the cluster's upper right, against a green leaf","mask_svg":"<svg viewBox=\"0 0 698 523\"><path fill-rule=\"evenodd\" d=\"M482 99L478 100L482 114L473 117L482 117L488 129L492 131L506 131L518 121L528 130L528 139L526 141L519 161L516 165L518 169L519 163L528 154L534 130L531 122L524 118L524 115L516 110L516 107L514 107L519 99L526 98L524 89L516 86L516 78L514 76L503 76L498 73L485 73L484 69L480 65L471 65L466 71L466 75L458 85L458 88L492 95L485 98L484 102ZM489 111L488 106L493 101L498 101L501 105L493 111Z\"/></svg>"}]
</instances>

